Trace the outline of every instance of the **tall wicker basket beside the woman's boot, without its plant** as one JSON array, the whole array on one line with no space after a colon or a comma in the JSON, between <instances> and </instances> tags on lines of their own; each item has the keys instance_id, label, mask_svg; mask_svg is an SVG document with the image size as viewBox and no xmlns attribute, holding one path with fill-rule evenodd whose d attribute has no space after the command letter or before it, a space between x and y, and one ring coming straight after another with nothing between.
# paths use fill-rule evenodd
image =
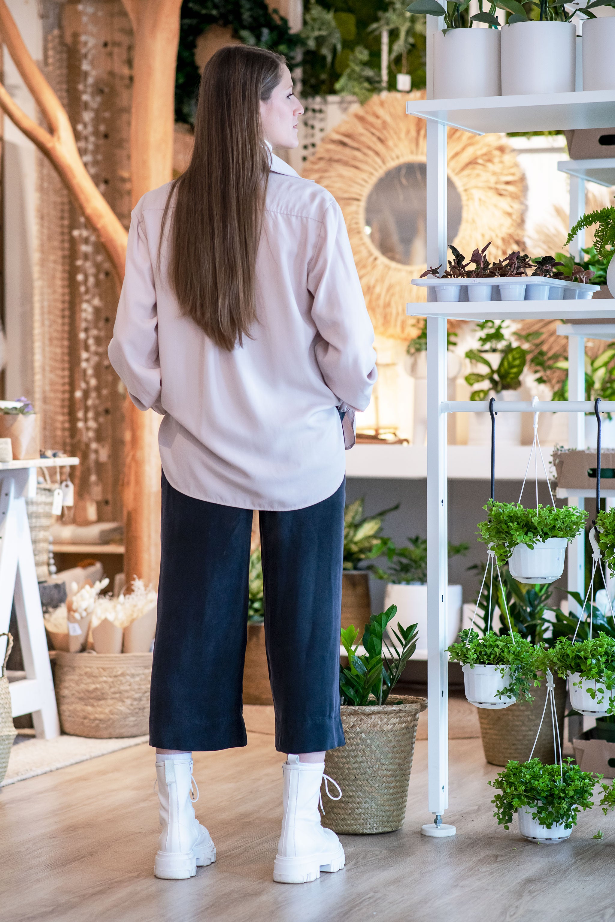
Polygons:
<instances>
[{"instance_id":1,"label":"tall wicker basket beside the woman's boot, without its plant","mask_svg":"<svg viewBox=\"0 0 615 922\"><path fill-rule=\"evenodd\" d=\"M323 798L323 825L336 833L390 833L406 816L408 783L419 715L425 698L391 694L402 704L341 708L346 746L325 755L325 773L342 790L339 800Z\"/></svg>"}]
</instances>

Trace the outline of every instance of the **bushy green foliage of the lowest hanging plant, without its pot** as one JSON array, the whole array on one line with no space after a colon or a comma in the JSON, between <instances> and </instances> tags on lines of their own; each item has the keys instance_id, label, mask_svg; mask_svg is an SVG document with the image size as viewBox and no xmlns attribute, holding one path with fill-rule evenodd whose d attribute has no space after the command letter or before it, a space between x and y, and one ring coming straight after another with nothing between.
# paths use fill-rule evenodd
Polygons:
<instances>
[{"instance_id":1,"label":"bushy green foliage of the lowest hanging plant, without its pot","mask_svg":"<svg viewBox=\"0 0 615 922\"><path fill-rule=\"evenodd\" d=\"M541 826L552 829L562 823L564 829L572 829L579 810L594 806L590 798L601 777L582 772L572 759L563 760L562 770L559 765L543 765L539 759L508 762L503 772L488 782L501 792L491 800L493 816L508 829L520 807L531 807L532 819Z\"/></svg>"}]
</instances>

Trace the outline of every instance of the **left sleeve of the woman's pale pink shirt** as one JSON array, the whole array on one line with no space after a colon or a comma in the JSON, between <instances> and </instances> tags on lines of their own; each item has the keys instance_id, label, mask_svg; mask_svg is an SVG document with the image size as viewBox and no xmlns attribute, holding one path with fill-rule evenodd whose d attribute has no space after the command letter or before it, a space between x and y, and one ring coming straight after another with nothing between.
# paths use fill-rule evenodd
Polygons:
<instances>
[{"instance_id":1,"label":"left sleeve of the woman's pale pink shirt","mask_svg":"<svg viewBox=\"0 0 615 922\"><path fill-rule=\"evenodd\" d=\"M108 353L136 408L163 416L156 287L138 206L128 231L124 284Z\"/></svg>"}]
</instances>

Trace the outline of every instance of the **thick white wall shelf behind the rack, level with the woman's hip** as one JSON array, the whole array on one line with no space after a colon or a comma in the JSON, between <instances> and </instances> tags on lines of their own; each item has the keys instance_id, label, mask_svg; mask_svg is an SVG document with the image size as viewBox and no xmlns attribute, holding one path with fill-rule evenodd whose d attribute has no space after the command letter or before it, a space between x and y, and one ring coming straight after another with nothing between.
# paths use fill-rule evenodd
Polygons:
<instances>
[{"instance_id":1,"label":"thick white wall shelf behind the rack, level with the woman's hip","mask_svg":"<svg viewBox=\"0 0 615 922\"><path fill-rule=\"evenodd\" d=\"M523 480L531 445L496 445L495 479ZM545 460L552 445L542 446ZM539 467L539 466L538 466ZM355 445L346 453L346 476L389 480L427 478L427 448L420 445ZM449 480L491 479L490 445L449 445ZM545 480L538 470L538 479Z\"/></svg>"}]
</instances>

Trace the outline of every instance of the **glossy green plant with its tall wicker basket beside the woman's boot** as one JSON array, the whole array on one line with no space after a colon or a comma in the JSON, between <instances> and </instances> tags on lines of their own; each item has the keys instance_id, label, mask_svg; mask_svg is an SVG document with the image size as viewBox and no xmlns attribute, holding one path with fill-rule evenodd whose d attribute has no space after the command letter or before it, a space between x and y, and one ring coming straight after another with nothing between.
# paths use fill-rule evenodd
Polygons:
<instances>
[{"instance_id":1,"label":"glossy green plant with its tall wicker basket beside the woman's boot","mask_svg":"<svg viewBox=\"0 0 615 922\"><path fill-rule=\"evenodd\" d=\"M392 605L372 615L361 632L342 628L348 666L339 668L341 719L346 745L325 755L325 773L335 778L342 796L326 808L323 825L336 833L387 833L406 815L412 754L424 698L394 693L414 653L417 625L387 628L396 615Z\"/></svg>"}]
</instances>

